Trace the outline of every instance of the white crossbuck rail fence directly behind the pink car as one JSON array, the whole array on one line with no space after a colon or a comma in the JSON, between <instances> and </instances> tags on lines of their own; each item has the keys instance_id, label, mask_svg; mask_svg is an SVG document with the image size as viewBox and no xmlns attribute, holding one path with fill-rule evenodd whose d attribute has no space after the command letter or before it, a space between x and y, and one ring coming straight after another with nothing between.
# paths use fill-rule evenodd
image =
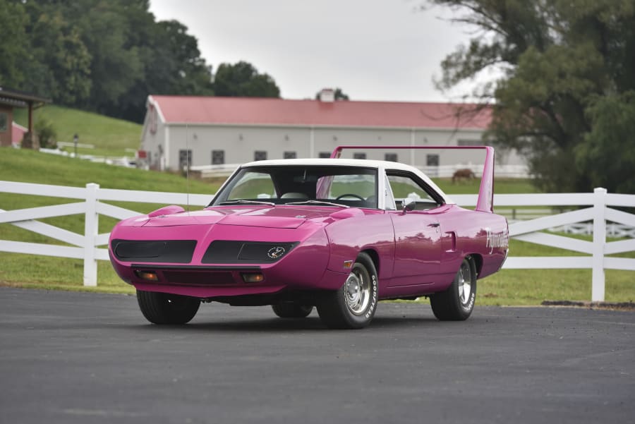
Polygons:
<instances>
[{"instance_id":1,"label":"white crossbuck rail fence directly behind the pink car","mask_svg":"<svg viewBox=\"0 0 635 424\"><path fill-rule=\"evenodd\" d=\"M59 246L0 240L0 251L83 259L83 280L85 286L97 285L97 260L109 260L107 248L100 247L107 245L109 233L98 234L99 215L126 219L139 214L139 212L109 205L105 203L106 201L204 206L212 198L211 194L186 195L185 193L112 190L99 188L97 184L93 183L87 184L85 188L78 188L11 181L0 181L0 193L42 195L80 200L80 202L64 205L32 207L22 210L0 209L0 224L13 224L71 245ZM476 205L476 195L454 195L452 199L459 205ZM635 214L629 214L610 207L635 207L635 195L609 194L603 188L596 188L594 193L495 195L494 205L496 208L534 205L543 207L588 206L572 212L509 224L509 235L512 238L572 250L586 255L517 257L513 256L512 252L512 256L507 258L507 262L505 262L505 269L593 269L592 301L603 301L605 298L605 269L635 271L635 259L609 256L635 250L635 238L610 243L606 241L607 222L635 227ZM73 214L84 215L84 234L76 234L72 231L37 221L37 219ZM583 241L543 232L543 230L555 227L588 221L593 222L593 241Z\"/></svg>"}]
</instances>

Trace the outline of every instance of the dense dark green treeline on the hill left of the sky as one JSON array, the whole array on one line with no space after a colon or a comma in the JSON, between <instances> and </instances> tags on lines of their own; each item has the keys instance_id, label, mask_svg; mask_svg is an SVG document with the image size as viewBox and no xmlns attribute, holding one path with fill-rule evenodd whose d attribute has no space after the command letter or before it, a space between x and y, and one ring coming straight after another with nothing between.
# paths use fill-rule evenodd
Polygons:
<instances>
[{"instance_id":1,"label":"dense dark green treeline on the hill left of the sky","mask_svg":"<svg viewBox=\"0 0 635 424\"><path fill-rule=\"evenodd\" d=\"M0 0L0 86L136 122L149 94L279 97L274 80L246 62L220 65L212 82L188 28L157 22L149 7L149 0Z\"/></svg>"}]
</instances>

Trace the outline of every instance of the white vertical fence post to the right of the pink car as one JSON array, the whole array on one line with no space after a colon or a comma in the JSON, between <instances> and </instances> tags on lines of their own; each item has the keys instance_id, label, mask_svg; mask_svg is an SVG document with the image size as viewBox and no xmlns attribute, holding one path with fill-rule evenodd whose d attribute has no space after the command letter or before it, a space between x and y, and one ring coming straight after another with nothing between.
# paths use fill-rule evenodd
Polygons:
<instances>
[{"instance_id":1,"label":"white vertical fence post to the right of the pink car","mask_svg":"<svg viewBox=\"0 0 635 424\"><path fill-rule=\"evenodd\" d=\"M606 246L606 188L593 190L593 277L591 301L603 302L605 292L604 248Z\"/></svg>"}]
</instances>

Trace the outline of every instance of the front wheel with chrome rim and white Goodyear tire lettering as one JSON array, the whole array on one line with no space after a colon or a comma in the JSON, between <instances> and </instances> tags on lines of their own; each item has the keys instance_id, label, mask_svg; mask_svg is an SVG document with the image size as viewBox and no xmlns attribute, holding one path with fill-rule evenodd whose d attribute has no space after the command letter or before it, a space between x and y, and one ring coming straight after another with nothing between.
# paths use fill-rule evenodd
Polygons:
<instances>
[{"instance_id":1,"label":"front wheel with chrome rim and white Goodyear tire lettering","mask_svg":"<svg viewBox=\"0 0 635 424\"><path fill-rule=\"evenodd\" d=\"M375 316L378 291L373 260L366 253L360 253L341 288L324 293L320 298L317 313L329 328L366 327Z\"/></svg>"}]
</instances>

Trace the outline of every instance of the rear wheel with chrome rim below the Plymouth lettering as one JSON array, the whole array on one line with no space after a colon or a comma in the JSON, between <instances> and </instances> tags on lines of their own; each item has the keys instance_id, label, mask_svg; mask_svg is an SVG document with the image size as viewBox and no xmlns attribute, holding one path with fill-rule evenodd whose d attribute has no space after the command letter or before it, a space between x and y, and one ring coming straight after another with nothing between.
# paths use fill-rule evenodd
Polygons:
<instances>
[{"instance_id":1,"label":"rear wheel with chrome rim below the Plymouth lettering","mask_svg":"<svg viewBox=\"0 0 635 424\"><path fill-rule=\"evenodd\" d=\"M430 305L438 320L463 321L472 314L475 301L476 265L468 256L461 262L452 284L445 291L430 296Z\"/></svg>"}]
</instances>

